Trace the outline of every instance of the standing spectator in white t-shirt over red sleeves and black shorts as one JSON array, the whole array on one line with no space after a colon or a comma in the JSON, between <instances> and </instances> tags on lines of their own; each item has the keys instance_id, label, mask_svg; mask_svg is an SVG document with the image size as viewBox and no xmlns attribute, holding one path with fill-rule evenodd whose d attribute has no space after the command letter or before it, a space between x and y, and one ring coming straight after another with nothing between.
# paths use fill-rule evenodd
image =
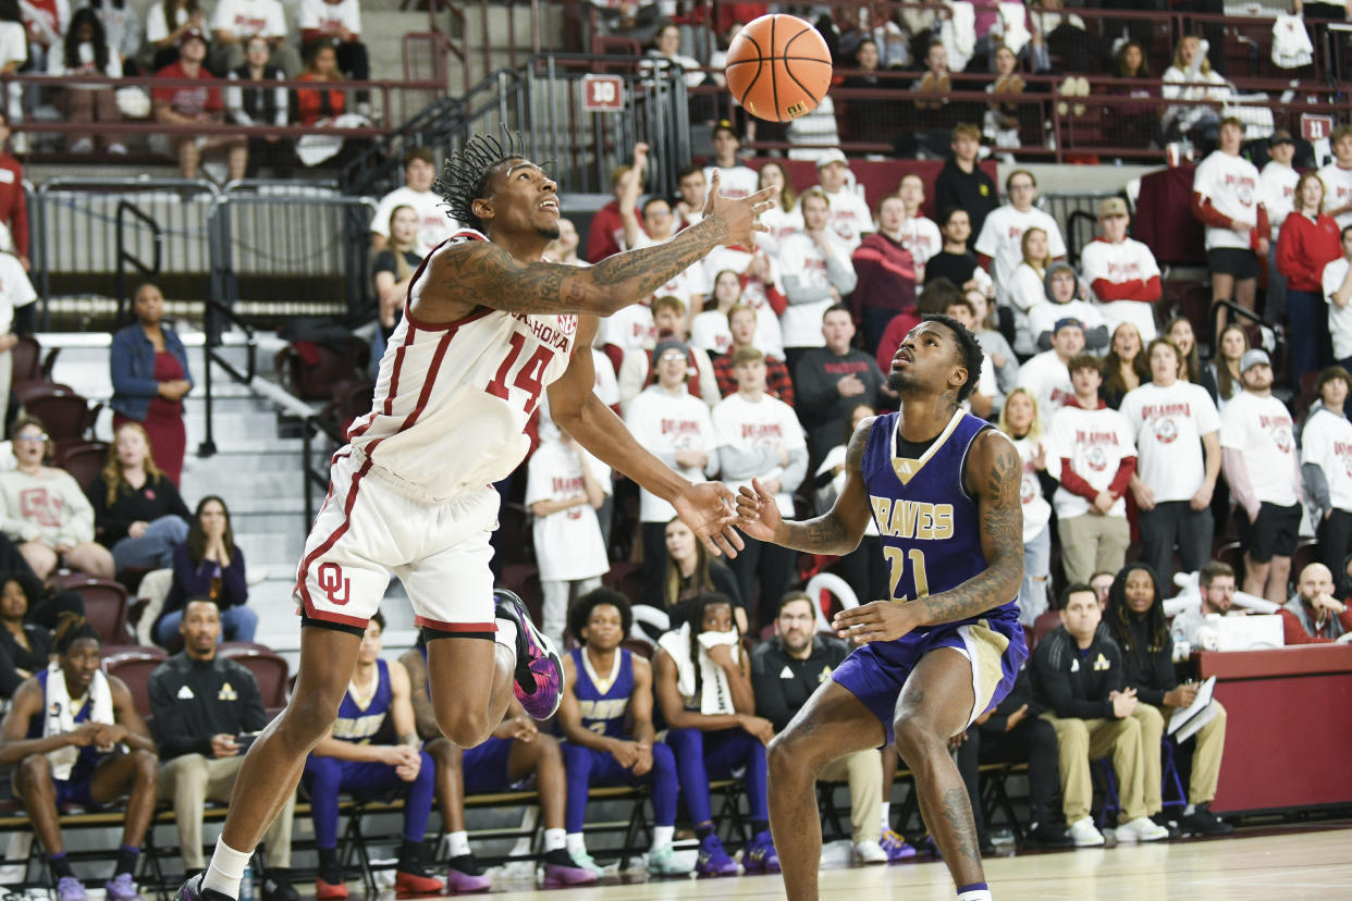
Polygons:
<instances>
[{"instance_id":1,"label":"standing spectator in white t-shirt over red sleeves and black shorts","mask_svg":"<svg viewBox=\"0 0 1352 901\"><path fill-rule=\"evenodd\" d=\"M1211 300L1234 300L1253 309L1259 259L1272 243L1263 181L1257 168L1240 155L1244 123L1221 120L1221 143L1192 174L1192 216L1206 226L1206 261L1211 267ZM1221 311L1221 324L1225 312Z\"/></svg>"}]
</instances>

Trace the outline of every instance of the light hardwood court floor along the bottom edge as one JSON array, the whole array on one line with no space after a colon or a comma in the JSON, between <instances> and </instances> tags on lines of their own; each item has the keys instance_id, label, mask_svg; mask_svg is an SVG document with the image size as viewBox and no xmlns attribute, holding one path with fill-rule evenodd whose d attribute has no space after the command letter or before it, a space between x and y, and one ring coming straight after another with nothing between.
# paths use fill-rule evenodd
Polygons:
<instances>
[{"instance_id":1,"label":"light hardwood court floor along the bottom edge","mask_svg":"<svg viewBox=\"0 0 1352 901\"><path fill-rule=\"evenodd\" d=\"M1293 827L1236 838L996 856L986 862L995 897L1078 901L1179 898L1352 898L1352 828ZM493 892L544 901L687 901L783 898L777 875L600 885L558 892ZM521 886L525 889L525 886ZM823 901L950 900L941 862L823 870Z\"/></svg>"}]
</instances>

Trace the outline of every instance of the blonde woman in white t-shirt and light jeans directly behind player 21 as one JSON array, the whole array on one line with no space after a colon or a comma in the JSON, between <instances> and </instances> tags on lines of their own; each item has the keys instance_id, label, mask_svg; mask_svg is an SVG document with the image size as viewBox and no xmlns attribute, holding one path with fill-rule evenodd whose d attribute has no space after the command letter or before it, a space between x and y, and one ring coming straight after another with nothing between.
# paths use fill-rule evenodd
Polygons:
<instances>
[{"instance_id":1,"label":"blonde woman in white t-shirt and light jeans directly behind player 21","mask_svg":"<svg viewBox=\"0 0 1352 901\"><path fill-rule=\"evenodd\" d=\"M1019 621L1032 627L1048 608L1052 577L1052 505L1042 493L1040 473L1046 471L1046 442L1037 398L1026 388L1015 388L1005 398L1000 431L1014 440L1023 461L1023 586L1018 593Z\"/></svg>"}]
</instances>

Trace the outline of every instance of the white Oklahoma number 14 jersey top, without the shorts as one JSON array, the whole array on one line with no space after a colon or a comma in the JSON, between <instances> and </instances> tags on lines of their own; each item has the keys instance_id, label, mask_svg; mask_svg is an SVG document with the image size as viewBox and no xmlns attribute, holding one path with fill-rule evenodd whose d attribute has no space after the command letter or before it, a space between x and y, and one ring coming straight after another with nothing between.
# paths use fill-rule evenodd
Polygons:
<instances>
[{"instance_id":1,"label":"white Oklahoma number 14 jersey top, without the shorts","mask_svg":"<svg viewBox=\"0 0 1352 901\"><path fill-rule=\"evenodd\" d=\"M347 432L380 475L430 503L516 469L530 448L526 421L545 386L568 369L577 335L573 315L480 307L456 323L415 319L410 311L427 284L429 263L466 240L487 238L462 228L414 273L403 321L380 361L372 409Z\"/></svg>"}]
</instances>

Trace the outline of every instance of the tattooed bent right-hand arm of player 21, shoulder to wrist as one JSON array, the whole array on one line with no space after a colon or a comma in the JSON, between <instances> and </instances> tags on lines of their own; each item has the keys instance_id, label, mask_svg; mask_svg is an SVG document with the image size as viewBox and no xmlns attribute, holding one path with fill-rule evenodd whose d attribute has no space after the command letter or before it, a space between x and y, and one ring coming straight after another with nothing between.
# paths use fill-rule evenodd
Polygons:
<instances>
[{"instance_id":1,"label":"tattooed bent right-hand arm of player 21, shoulder to wrist","mask_svg":"<svg viewBox=\"0 0 1352 901\"><path fill-rule=\"evenodd\" d=\"M955 589L917 601L923 605L929 625L953 623L999 607L1018 593L1023 581L1023 504L1019 498L1023 465L1014 444L1003 436L992 434L983 442L991 451L986 486L979 489L986 570Z\"/></svg>"}]
</instances>

